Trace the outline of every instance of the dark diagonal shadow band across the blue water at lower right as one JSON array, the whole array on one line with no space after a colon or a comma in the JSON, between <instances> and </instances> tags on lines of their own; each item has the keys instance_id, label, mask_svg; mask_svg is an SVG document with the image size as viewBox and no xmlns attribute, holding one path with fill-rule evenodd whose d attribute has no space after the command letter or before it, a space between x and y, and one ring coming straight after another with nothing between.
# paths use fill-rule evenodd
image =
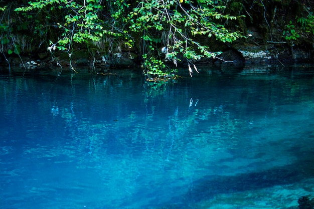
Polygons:
<instances>
[{"instance_id":1,"label":"dark diagonal shadow band across the blue water at lower right","mask_svg":"<svg viewBox=\"0 0 314 209\"><path fill-rule=\"evenodd\" d=\"M314 152L303 154L310 157L314 155ZM245 191L254 193L254 191L258 192L263 188L295 184L306 178L314 177L313 164L314 160L312 158L307 160L303 158L291 165L275 167L261 172L241 173L232 176L207 175L194 181L188 192L183 196L174 197L169 203L156 208L195 208L196 204L214 199L219 194ZM174 202L177 202L177 204Z\"/></svg>"}]
</instances>

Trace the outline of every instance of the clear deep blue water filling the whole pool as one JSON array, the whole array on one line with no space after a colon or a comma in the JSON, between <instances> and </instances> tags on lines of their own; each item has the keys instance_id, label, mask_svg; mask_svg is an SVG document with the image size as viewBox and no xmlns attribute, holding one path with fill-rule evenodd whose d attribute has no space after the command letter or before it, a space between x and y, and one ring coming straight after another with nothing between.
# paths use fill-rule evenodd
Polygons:
<instances>
[{"instance_id":1,"label":"clear deep blue water filling the whole pool","mask_svg":"<svg viewBox=\"0 0 314 209\"><path fill-rule=\"evenodd\" d=\"M0 76L0 208L296 208L314 194L314 69ZM140 71L139 71L140 72Z\"/></svg>"}]
</instances>

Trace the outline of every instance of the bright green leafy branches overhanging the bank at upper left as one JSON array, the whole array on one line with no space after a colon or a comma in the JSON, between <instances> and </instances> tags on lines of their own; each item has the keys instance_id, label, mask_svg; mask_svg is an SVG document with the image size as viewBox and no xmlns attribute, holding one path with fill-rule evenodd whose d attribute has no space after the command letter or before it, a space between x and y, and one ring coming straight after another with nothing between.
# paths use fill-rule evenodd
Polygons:
<instances>
[{"instance_id":1,"label":"bright green leafy branches overhanging the bank at upper left","mask_svg":"<svg viewBox=\"0 0 314 209\"><path fill-rule=\"evenodd\" d=\"M38 23L35 31L43 28L44 25L53 24L59 36L51 37L47 49L51 53L55 50L67 52L71 64L74 46L85 45L87 48L92 48L90 46L101 41L105 36L121 36L113 32L112 28L106 29L104 21L99 18L103 10L101 2L100 0L40 0L29 2L28 7L17 8L15 11L22 13L28 19L32 19L32 14L37 12L36 16L44 16L44 20L49 21L49 23ZM57 17L54 14L57 14ZM47 31L44 34L47 34ZM72 64L70 66L73 69Z\"/></svg>"}]
</instances>

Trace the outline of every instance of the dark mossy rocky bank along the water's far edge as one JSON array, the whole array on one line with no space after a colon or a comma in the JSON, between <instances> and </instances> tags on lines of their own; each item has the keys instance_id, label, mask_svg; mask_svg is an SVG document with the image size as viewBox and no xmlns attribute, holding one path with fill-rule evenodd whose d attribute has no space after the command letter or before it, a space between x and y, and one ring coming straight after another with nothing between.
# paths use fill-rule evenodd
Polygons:
<instances>
[{"instance_id":1,"label":"dark mossy rocky bank along the water's far edge","mask_svg":"<svg viewBox=\"0 0 314 209\"><path fill-rule=\"evenodd\" d=\"M278 47L278 45L280 45ZM202 59L197 64L285 64L293 63L311 63L313 61L313 53L311 50L295 48L289 49L284 43L267 43L265 45L254 45L254 39L247 43L238 43L233 46L223 47L223 53L218 59ZM133 51L113 52L106 55L91 56L87 50L78 50L71 55L65 52L49 52L40 53L34 57L30 56L11 56L2 58L3 66L22 67L22 68L38 68L38 67L83 67L92 66L97 68L134 68L140 67L141 60ZM182 59L184 60L184 59ZM185 66L186 63L179 63L179 66Z\"/></svg>"}]
</instances>

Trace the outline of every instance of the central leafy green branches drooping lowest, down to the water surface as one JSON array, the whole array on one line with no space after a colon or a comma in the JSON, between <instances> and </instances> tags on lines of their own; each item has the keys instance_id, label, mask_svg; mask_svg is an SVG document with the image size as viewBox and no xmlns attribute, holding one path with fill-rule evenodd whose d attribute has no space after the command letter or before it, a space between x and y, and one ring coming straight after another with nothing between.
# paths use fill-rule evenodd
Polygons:
<instances>
[{"instance_id":1,"label":"central leafy green branches drooping lowest, down to the water surface","mask_svg":"<svg viewBox=\"0 0 314 209\"><path fill-rule=\"evenodd\" d=\"M217 55L196 41L202 36L213 36L224 43L241 37L238 32L230 32L219 23L222 19L237 18L223 15L223 9L223 6L214 1L184 1L184 4L183 1L138 1L137 7L129 13L127 20L130 23L129 29L142 35L143 67L146 74L159 72L157 69L167 69L167 65L158 62L147 64L160 57L157 49L163 46L169 50L165 53L165 60L172 61L177 66L177 61L180 61L179 53L188 63ZM162 37L161 40L159 37Z\"/></svg>"}]
</instances>

